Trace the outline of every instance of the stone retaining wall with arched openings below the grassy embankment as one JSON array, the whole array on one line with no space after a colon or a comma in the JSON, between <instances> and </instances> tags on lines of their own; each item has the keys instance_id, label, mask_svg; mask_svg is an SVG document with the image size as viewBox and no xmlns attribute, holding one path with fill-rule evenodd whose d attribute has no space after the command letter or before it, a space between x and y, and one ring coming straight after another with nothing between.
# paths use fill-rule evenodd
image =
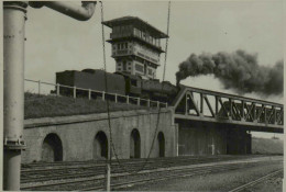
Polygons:
<instances>
[{"instance_id":1,"label":"stone retaining wall with arched openings below the grassy embankment","mask_svg":"<svg viewBox=\"0 0 286 192\"><path fill-rule=\"evenodd\" d=\"M138 129L140 133L140 157L147 157L156 129L157 114L157 110L111 113L112 142L119 158L130 158L131 132L133 129ZM64 161L92 160L95 145L97 145L95 144L96 135L103 132L109 139L108 127L107 113L25 120L24 139L28 148L22 153L22 162L43 160L43 150L46 148L43 144L50 134L59 137ZM172 123L169 110L161 110L156 133L160 132L163 133L165 139L165 157L176 156L176 126ZM158 157L160 154L157 134L151 157ZM114 154L112 158L114 158Z\"/></svg>"}]
</instances>

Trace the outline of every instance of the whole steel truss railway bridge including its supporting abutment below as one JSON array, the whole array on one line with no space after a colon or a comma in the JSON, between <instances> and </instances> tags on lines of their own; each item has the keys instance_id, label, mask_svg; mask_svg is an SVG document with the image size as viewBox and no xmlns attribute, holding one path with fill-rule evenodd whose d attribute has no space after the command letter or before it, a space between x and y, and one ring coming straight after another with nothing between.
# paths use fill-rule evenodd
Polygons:
<instances>
[{"instance_id":1,"label":"whole steel truss railway bridge including its supporting abutment below","mask_svg":"<svg viewBox=\"0 0 286 192\"><path fill-rule=\"evenodd\" d=\"M284 133L284 105L183 86L173 102L178 155L251 154L251 132Z\"/></svg>"}]
</instances>

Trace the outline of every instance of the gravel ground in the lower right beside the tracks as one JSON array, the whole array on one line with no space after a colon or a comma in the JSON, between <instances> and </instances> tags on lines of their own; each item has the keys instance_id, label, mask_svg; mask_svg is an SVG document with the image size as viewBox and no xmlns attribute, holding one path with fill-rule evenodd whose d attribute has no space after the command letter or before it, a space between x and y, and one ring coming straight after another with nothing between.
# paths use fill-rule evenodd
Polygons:
<instances>
[{"instance_id":1,"label":"gravel ground in the lower right beside the tracks","mask_svg":"<svg viewBox=\"0 0 286 192\"><path fill-rule=\"evenodd\" d=\"M275 170L283 169L282 162L264 163L252 168L232 170L228 172L211 173L197 177L178 178L134 185L122 191L229 191L252 180L258 179ZM249 189L249 192L282 192L282 179L265 181L257 188ZM267 188L266 188L267 187ZM248 190L245 190L248 191Z\"/></svg>"}]
</instances>

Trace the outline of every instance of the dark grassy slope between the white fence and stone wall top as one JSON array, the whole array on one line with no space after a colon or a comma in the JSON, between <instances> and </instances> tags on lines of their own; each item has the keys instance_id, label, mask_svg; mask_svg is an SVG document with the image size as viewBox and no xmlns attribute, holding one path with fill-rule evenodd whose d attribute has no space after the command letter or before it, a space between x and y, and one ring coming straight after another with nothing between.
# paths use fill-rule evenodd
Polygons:
<instances>
[{"instance_id":1,"label":"dark grassy slope between the white fence and stone wall top","mask_svg":"<svg viewBox=\"0 0 286 192\"><path fill-rule=\"evenodd\" d=\"M141 110L146 106L110 103L110 111ZM73 99L68 97L42 95L25 92L24 118L68 116L107 112L107 102L102 100Z\"/></svg>"}]
</instances>

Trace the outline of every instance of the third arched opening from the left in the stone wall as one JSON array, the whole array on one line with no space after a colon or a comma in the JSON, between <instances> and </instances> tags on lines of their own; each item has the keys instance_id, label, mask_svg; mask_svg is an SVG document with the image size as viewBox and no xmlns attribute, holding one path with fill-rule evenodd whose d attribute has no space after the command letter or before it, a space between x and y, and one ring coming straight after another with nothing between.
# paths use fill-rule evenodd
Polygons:
<instances>
[{"instance_id":1,"label":"third arched opening from the left in the stone wall","mask_svg":"<svg viewBox=\"0 0 286 192\"><path fill-rule=\"evenodd\" d=\"M133 129L130 135L130 158L140 158L141 156L141 140L138 129Z\"/></svg>"}]
</instances>

